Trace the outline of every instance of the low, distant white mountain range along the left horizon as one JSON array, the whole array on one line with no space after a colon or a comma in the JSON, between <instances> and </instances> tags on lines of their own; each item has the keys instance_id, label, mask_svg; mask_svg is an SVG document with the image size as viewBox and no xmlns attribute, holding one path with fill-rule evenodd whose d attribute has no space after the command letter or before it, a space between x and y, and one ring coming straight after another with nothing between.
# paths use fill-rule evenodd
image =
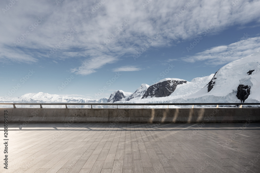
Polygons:
<instances>
[{"instance_id":1,"label":"low, distant white mountain range along the left horizon","mask_svg":"<svg viewBox=\"0 0 260 173\"><path fill-rule=\"evenodd\" d=\"M4 100L3 100L4 101ZM60 96L57 94L48 93L28 93L21 97L13 98L9 101L12 102L32 102L32 103L44 103L44 102L61 102L61 103L106 103L107 98L102 98L99 100L92 100L87 98Z\"/></svg>"}]
</instances>

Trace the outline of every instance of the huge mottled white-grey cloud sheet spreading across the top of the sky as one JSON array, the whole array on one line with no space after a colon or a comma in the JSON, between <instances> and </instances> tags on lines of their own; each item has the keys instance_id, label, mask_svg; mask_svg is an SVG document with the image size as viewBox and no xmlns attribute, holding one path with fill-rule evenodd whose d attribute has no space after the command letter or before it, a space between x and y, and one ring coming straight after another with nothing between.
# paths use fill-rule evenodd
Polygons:
<instances>
[{"instance_id":1,"label":"huge mottled white-grey cloud sheet spreading across the top of the sky","mask_svg":"<svg viewBox=\"0 0 260 173\"><path fill-rule=\"evenodd\" d=\"M188 2L191 5L183 9ZM1 1L0 7L4 8L6 3ZM216 26L211 34L233 25L260 22L258 0L241 0L232 7L232 1L219 0L151 1L145 8L142 3L145 1L105 1L90 15L96 2L67 0L57 5L49 0L16 1L5 14L0 13L0 61L35 63L40 58L47 58L47 53L61 42L50 58L85 58L94 67L87 66L79 71L79 65L72 71L86 75L118 59L111 57L136 54L145 44L159 48L196 38L212 22ZM29 28L38 17L43 21L31 31ZM129 21L127 25L125 20ZM64 36L73 28L77 33L64 41ZM15 49L14 42L26 31L30 34L17 45L19 49ZM154 40L158 32L162 34ZM151 43L150 39L154 41ZM109 43L104 45L104 41ZM33 51L28 51L31 49ZM97 63L97 59L104 62Z\"/></svg>"}]
</instances>

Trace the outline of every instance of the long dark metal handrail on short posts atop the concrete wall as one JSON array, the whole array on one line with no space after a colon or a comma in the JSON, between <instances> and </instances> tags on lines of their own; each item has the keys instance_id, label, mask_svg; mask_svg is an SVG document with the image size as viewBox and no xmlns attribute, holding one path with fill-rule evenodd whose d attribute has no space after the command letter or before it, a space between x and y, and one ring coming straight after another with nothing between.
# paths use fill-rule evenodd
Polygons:
<instances>
[{"instance_id":1,"label":"long dark metal handrail on short posts atop the concrete wall","mask_svg":"<svg viewBox=\"0 0 260 173\"><path fill-rule=\"evenodd\" d=\"M65 105L66 108L67 105L116 105L118 108L118 105L126 105L126 106L162 106L162 105L168 105L167 108L169 108L169 105L192 105L192 108L194 108L194 105L217 105L216 108L219 107L219 105L240 105L239 108L242 108L242 105L260 105L260 103L0 103L0 105L13 105L14 108L16 108L15 105L40 105L40 108L42 108L42 105Z\"/></svg>"}]
</instances>

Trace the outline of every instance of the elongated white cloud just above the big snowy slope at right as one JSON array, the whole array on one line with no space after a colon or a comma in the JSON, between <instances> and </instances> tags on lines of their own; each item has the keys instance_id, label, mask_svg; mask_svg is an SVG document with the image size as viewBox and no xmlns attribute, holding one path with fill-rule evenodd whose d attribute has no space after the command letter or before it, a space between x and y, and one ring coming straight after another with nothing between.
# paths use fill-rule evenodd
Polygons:
<instances>
[{"instance_id":1,"label":"elongated white cloud just above the big snowy slope at right","mask_svg":"<svg viewBox=\"0 0 260 173\"><path fill-rule=\"evenodd\" d=\"M247 38L229 45L212 47L194 56L183 57L186 62L206 61L206 65L221 65L246 57L260 50L260 37Z\"/></svg>"}]
</instances>

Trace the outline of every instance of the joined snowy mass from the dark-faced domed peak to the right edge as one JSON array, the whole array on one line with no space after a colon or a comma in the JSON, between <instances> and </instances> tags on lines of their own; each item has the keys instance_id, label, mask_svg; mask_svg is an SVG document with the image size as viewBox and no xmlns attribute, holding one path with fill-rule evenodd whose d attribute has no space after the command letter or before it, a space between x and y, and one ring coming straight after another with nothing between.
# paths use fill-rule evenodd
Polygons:
<instances>
[{"instance_id":1,"label":"joined snowy mass from the dark-faced domed peak to the right edge","mask_svg":"<svg viewBox=\"0 0 260 173\"><path fill-rule=\"evenodd\" d=\"M240 103L260 102L260 52L233 61L215 74L191 82L166 78L126 103Z\"/></svg>"}]
</instances>

